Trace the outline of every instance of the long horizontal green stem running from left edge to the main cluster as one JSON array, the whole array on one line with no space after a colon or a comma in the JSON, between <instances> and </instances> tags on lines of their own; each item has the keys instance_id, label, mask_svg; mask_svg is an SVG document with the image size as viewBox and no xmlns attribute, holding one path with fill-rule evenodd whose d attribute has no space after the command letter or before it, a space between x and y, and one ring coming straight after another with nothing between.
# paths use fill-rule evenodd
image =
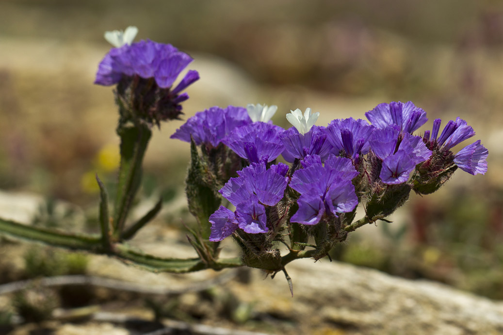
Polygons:
<instances>
[{"instance_id":1,"label":"long horizontal green stem running from left edge to the main cluster","mask_svg":"<svg viewBox=\"0 0 503 335\"><path fill-rule=\"evenodd\" d=\"M100 236L63 233L53 229L27 226L4 219L0 219L0 234L51 246L108 255L152 272L187 273L210 268L221 270L243 265L240 258L216 260L210 265L202 262L199 258L160 258L144 254L123 243L113 244L111 248L106 247L103 245L103 240Z\"/></svg>"}]
</instances>

